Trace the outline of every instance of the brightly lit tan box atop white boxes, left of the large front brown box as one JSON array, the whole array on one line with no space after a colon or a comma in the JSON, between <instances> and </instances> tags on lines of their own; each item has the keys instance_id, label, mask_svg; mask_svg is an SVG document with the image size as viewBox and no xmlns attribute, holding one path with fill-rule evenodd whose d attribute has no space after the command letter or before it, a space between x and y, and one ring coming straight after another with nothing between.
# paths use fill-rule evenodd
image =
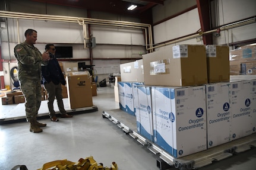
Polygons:
<instances>
[{"instance_id":1,"label":"brightly lit tan box atop white boxes, left of the large front brown box","mask_svg":"<svg viewBox=\"0 0 256 170\"><path fill-rule=\"evenodd\" d=\"M143 60L120 65L122 82L144 82Z\"/></svg>"}]
</instances>

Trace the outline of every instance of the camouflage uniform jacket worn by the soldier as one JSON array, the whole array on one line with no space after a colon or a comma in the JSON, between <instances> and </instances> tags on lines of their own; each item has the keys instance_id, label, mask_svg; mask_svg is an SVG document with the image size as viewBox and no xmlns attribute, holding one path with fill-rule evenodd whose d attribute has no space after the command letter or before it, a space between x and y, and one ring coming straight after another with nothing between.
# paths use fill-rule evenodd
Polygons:
<instances>
[{"instance_id":1,"label":"camouflage uniform jacket worn by the soldier","mask_svg":"<svg viewBox=\"0 0 256 170\"><path fill-rule=\"evenodd\" d=\"M42 79L41 65L46 62L36 47L20 43L14 47L14 54L18 60L18 79Z\"/></svg>"}]
</instances>

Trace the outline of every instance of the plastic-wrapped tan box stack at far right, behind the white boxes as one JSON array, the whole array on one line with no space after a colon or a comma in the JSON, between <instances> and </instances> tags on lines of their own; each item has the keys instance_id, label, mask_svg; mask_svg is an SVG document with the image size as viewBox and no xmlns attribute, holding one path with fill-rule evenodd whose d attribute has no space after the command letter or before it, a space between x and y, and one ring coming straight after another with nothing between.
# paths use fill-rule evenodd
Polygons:
<instances>
[{"instance_id":1,"label":"plastic-wrapped tan box stack at far right, behind the white boxes","mask_svg":"<svg viewBox=\"0 0 256 170\"><path fill-rule=\"evenodd\" d=\"M256 44L231 50L229 60L230 75L256 75Z\"/></svg>"}]
</instances>

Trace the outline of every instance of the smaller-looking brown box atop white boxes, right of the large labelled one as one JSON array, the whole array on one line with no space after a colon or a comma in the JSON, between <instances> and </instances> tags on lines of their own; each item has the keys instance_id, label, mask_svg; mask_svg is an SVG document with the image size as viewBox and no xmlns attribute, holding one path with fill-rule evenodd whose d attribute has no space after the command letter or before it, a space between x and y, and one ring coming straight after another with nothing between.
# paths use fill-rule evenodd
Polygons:
<instances>
[{"instance_id":1,"label":"smaller-looking brown box atop white boxes, right of the large labelled one","mask_svg":"<svg viewBox=\"0 0 256 170\"><path fill-rule=\"evenodd\" d=\"M208 83L229 81L229 46L206 46Z\"/></svg>"}]
</instances>

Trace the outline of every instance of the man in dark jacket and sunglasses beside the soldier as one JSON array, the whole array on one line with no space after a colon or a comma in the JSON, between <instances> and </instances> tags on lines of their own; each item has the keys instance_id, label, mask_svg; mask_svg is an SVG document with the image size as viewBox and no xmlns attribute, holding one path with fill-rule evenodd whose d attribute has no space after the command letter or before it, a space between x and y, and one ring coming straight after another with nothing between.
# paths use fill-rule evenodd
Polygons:
<instances>
[{"instance_id":1,"label":"man in dark jacket and sunglasses beside the soldier","mask_svg":"<svg viewBox=\"0 0 256 170\"><path fill-rule=\"evenodd\" d=\"M45 86L48 94L48 108L50 120L59 121L53 109L53 101L55 100L55 97L57 100L59 112L61 113L61 117L72 117L72 115L67 114L62 100L63 97L61 84L65 85L66 81L62 73L61 67L59 66L58 60L55 57L56 49L54 45L46 44L45 50L46 52L49 52L50 60L48 60L48 65L42 66L43 85Z\"/></svg>"}]
</instances>

